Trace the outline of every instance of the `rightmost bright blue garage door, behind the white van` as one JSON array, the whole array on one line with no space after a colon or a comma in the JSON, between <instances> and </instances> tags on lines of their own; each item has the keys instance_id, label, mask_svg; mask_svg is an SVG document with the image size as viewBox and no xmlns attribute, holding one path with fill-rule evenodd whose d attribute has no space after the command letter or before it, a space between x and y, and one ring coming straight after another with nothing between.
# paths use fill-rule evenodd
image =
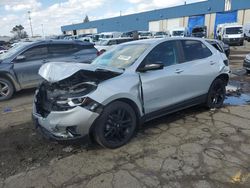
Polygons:
<instances>
[{"instance_id":1,"label":"rightmost bright blue garage door, behind the white van","mask_svg":"<svg viewBox=\"0 0 250 188\"><path fill-rule=\"evenodd\" d=\"M237 14L237 11L217 13L215 19L214 33L216 33L216 28L219 24L237 22Z\"/></svg>"}]
</instances>

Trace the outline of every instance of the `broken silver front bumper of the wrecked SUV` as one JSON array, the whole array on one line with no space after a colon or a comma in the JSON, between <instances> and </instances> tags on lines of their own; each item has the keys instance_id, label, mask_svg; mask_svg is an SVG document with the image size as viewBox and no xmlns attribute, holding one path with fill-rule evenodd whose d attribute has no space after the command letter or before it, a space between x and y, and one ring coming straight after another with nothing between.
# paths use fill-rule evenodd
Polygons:
<instances>
[{"instance_id":1,"label":"broken silver front bumper of the wrecked SUV","mask_svg":"<svg viewBox=\"0 0 250 188\"><path fill-rule=\"evenodd\" d=\"M99 114L83 107L75 107L68 111L52 111L46 117L37 113L33 105L33 122L45 136L53 140L72 140L89 135L91 125Z\"/></svg>"}]
</instances>

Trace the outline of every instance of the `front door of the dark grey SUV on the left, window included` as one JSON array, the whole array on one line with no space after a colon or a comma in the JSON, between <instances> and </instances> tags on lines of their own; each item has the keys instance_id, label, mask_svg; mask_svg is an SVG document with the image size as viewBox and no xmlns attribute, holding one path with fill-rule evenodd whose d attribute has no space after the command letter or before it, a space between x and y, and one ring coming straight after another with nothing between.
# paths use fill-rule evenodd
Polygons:
<instances>
[{"instance_id":1,"label":"front door of the dark grey SUV on the left, window included","mask_svg":"<svg viewBox=\"0 0 250 188\"><path fill-rule=\"evenodd\" d=\"M18 57L22 57L18 59ZM47 45L36 45L19 54L13 60L14 72L22 88L35 87L42 81L38 71L40 67L48 62Z\"/></svg>"}]
</instances>

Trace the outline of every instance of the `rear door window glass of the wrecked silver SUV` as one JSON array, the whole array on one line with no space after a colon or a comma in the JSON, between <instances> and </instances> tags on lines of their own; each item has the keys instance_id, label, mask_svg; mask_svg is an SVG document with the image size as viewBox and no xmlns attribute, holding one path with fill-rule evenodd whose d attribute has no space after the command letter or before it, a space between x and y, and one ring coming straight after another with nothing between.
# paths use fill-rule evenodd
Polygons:
<instances>
[{"instance_id":1,"label":"rear door window glass of the wrecked silver SUV","mask_svg":"<svg viewBox=\"0 0 250 188\"><path fill-rule=\"evenodd\" d=\"M183 40L181 43L185 61L204 59L212 55L212 52L200 41Z\"/></svg>"}]
</instances>

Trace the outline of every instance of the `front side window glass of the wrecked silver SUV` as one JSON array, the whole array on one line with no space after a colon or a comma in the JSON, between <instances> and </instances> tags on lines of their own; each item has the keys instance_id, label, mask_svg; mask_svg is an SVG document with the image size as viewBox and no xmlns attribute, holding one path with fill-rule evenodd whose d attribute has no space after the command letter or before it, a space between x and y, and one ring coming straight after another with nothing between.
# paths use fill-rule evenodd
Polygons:
<instances>
[{"instance_id":1,"label":"front side window glass of the wrecked silver SUV","mask_svg":"<svg viewBox=\"0 0 250 188\"><path fill-rule=\"evenodd\" d=\"M171 66L178 63L178 50L175 41L168 41L156 46L144 59L145 64L163 63Z\"/></svg>"}]
</instances>

